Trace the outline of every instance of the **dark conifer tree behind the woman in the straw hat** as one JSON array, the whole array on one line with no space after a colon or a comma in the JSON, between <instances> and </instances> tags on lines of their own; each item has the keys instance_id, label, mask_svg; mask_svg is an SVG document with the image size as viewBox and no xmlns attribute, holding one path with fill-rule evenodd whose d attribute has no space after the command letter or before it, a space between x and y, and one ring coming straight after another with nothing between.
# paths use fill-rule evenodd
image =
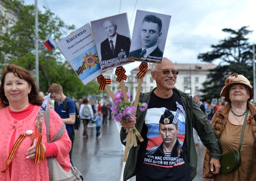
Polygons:
<instances>
[{"instance_id":1,"label":"dark conifer tree behind the woman in the straw hat","mask_svg":"<svg viewBox=\"0 0 256 181\"><path fill-rule=\"evenodd\" d=\"M246 38L252 31L248 30L248 26L238 30L225 28L222 31L229 33L229 36L220 40L219 44L211 45L212 51L198 55L198 59L203 62L221 60L215 69L210 70L208 81L203 84L203 100L219 98L225 79L234 72L252 81L252 45Z\"/></svg>"}]
</instances>

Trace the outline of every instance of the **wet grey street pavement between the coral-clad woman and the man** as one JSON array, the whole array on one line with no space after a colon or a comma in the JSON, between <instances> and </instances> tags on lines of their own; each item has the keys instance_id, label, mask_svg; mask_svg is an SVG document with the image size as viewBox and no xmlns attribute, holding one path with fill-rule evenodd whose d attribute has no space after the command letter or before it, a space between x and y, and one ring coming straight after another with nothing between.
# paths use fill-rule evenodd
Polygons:
<instances>
[{"instance_id":1,"label":"wet grey street pavement between the coral-clad woman and the man","mask_svg":"<svg viewBox=\"0 0 256 181\"><path fill-rule=\"evenodd\" d=\"M101 127L101 139L96 139L95 124L88 124L88 139L82 137L83 124L75 130L72 161L85 181L122 181L124 146L120 142L120 123L114 120ZM198 155L197 175L193 181L202 181L203 145L196 147ZM135 181L135 178L130 179Z\"/></svg>"}]
</instances>

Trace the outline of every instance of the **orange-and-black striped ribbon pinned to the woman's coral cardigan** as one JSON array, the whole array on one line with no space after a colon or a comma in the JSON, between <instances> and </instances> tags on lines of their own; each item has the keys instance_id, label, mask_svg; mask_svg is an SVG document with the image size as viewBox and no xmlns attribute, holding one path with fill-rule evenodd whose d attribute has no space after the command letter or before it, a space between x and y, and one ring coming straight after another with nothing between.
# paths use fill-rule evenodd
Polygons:
<instances>
[{"instance_id":1,"label":"orange-and-black striped ribbon pinned to the woman's coral cardigan","mask_svg":"<svg viewBox=\"0 0 256 181\"><path fill-rule=\"evenodd\" d=\"M30 147L33 145L34 133L32 133L32 134L28 134L28 133L21 134L18 137L18 139L16 140L16 142L14 143L13 148L12 148L8 158L7 158L6 168L1 171L3 174L7 171L9 165L13 161L13 158L14 158L14 155L15 155L16 151L18 150L20 144L22 143L22 141L25 139L26 136L31 136L32 143L31 143Z\"/></svg>"}]
</instances>

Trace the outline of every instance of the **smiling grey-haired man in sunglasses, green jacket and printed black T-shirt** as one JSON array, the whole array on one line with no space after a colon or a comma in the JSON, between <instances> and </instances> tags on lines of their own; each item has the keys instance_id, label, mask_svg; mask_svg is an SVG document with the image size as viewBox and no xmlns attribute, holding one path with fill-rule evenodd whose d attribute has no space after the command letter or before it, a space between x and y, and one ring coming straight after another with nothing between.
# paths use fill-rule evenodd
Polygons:
<instances>
[{"instance_id":1,"label":"smiling grey-haired man in sunglasses, green jacket and printed black T-shirt","mask_svg":"<svg viewBox=\"0 0 256 181\"><path fill-rule=\"evenodd\" d=\"M166 109L170 110L174 117L174 123L178 124L177 138L182 145L184 174L189 175L186 180L192 180L196 175L197 155L193 139L193 128L198 132L203 144L211 151L210 168L213 174L217 174L220 168L221 146L218 136L210 125L205 114L200 110L194 99L188 94L175 88L178 71L174 63L168 58L163 58L161 64L152 64L151 76L156 82L156 88L147 93L141 93L139 102L148 103L147 111L137 109L136 119L121 123L121 142L127 136L127 129L135 126L141 133L144 141L137 147L132 147L124 168L124 181L136 175L137 181L172 181L176 178L178 164L174 162L180 159L173 156L154 155L149 157L148 149L157 147L162 142L159 132L159 119ZM164 122L170 119L163 117ZM166 135L168 137L168 135ZM173 150L172 150L173 151ZM166 155L168 153L163 153ZM150 160L151 159L151 160ZM178 160L179 161L179 160ZM187 169L185 169L187 168ZM187 170L187 171L185 171Z\"/></svg>"}]
</instances>

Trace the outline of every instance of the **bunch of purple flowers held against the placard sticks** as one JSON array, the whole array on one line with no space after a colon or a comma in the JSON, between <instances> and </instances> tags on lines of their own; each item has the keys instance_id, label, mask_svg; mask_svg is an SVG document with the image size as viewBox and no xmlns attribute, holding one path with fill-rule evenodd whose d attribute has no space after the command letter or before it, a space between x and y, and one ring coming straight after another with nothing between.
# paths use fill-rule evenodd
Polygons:
<instances>
[{"instance_id":1,"label":"bunch of purple flowers held against the placard sticks","mask_svg":"<svg viewBox=\"0 0 256 181\"><path fill-rule=\"evenodd\" d=\"M131 95L127 92L127 98L129 99ZM148 108L147 103L138 103L139 109L144 111ZM115 121L119 122L121 119L124 119L128 122L129 119L135 118L135 106L132 103L124 103L122 92L115 93L114 106L111 107L111 110L114 112Z\"/></svg>"}]
</instances>

